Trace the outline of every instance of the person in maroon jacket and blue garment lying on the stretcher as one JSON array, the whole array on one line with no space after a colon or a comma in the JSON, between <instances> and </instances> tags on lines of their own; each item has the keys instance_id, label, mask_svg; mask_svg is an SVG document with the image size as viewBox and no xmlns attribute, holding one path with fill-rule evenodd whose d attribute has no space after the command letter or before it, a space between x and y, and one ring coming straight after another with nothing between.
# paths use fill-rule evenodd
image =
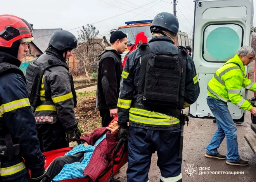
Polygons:
<instances>
[{"instance_id":1,"label":"person in maroon jacket and blue garment lying on the stretcher","mask_svg":"<svg viewBox=\"0 0 256 182\"><path fill-rule=\"evenodd\" d=\"M96 180L107 169L118 143L118 122L112 122L109 127L98 128L92 134L86 134L79 139L71 151L64 156L55 158L46 170L54 181L89 177ZM117 156L124 151L121 146ZM114 180L114 179L113 179ZM43 179L42 182L50 182Z\"/></svg>"}]
</instances>

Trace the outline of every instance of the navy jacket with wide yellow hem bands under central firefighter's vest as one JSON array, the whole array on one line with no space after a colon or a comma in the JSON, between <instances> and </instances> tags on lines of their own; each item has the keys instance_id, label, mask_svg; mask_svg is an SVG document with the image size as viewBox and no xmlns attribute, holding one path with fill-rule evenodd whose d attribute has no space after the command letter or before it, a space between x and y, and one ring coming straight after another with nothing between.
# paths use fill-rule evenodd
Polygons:
<instances>
[{"instance_id":1,"label":"navy jacket with wide yellow hem bands under central firefighter's vest","mask_svg":"<svg viewBox=\"0 0 256 182\"><path fill-rule=\"evenodd\" d=\"M171 52L178 54L178 47L174 45L171 38L166 36L154 37L149 41L149 47L154 53ZM157 108L156 110L152 109L152 111L149 111L147 109L131 107L132 100L137 99L135 88L138 87L140 78L140 57L140 51L136 49L129 54L126 60L118 99L118 122L123 126L127 126L126 122L130 122L131 126L145 129L178 129L180 127L179 119L170 114L156 112ZM190 56L187 56L185 80L185 93L187 94L187 98L184 100L183 107L186 108L193 104L197 100L199 92L200 88L194 62ZM140 103L137 104L140 105Z\"/></svg>"}]
</instances>

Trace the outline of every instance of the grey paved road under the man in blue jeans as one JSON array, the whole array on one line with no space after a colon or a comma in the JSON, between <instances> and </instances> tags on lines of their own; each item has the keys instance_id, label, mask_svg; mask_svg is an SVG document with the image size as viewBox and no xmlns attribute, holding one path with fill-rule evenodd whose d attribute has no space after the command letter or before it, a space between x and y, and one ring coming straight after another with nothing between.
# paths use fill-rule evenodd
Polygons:
<instances>
[{"instance_id":1,"label":"grey paved road under the man in blue jeans","mask_svg":"<svg viewBox=\"0 0 256 182\"><path fill-rule=\"evenodd\" d=\"M253 73L254 63L251 63L250 72ZM253 76L253 75L252 75ZM253 96L253 92L248 92L248 98ZM188 112L188 109L185 110ZM183 146L183 163L182 163L182 177L183 182L254 182L256 181L256 156L244 139L244 135L253 133L250 128L251 116L246 113L246 122L237 126L237 136L240 157L249 160L249 166L234 167L227 165L225 160L208 159L204 157L206 145L211 141L211 138L216 130L216 124L210 119L195 119L190 118L189 126L185 125L184 130L184 146ZM219 148L219 152L225 154L227 152L227 145L224 139ZM188 168L188 164L194 164L197 167L197 174L194 177L187 177L184 174L184 167ZM199 175L200 167L210 167L209 172L243 172L237 175ZM120 173L116 175L122 182L126 182L126 168L127 164L121 168ZM149 171L149 181L158 182L160 177L160 170L157 167L157 156L152 156L151 167Z\"/></svg>"}]
</instances>

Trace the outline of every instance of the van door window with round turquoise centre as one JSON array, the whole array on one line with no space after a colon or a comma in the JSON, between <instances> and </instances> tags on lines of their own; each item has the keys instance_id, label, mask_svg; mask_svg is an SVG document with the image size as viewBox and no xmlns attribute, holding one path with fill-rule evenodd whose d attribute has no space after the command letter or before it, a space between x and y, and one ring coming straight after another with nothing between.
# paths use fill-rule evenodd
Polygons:
<instances>
[{"instance_id":1,"label":"van door window with round turquoise centre","mask_svg":"<svg viewBox=\"0 0 256 182\"><path fill-rule=\"evenodd\" d=\"M211 24L204 29L202 56L209 62L226 62L243 45L244 30L238 24Z\"/></svg>"}]
</instances>

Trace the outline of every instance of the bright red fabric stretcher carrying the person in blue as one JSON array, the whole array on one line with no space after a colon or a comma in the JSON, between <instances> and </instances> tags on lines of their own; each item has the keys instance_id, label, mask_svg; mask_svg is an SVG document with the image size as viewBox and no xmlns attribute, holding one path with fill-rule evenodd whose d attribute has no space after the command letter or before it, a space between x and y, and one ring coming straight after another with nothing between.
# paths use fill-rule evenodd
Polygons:
<instances>
[{"instance_id":1,"label":"bright red fabric stretcher carrying the person in blue","mask_svg":"<svg viewBox=\"0 0 256 182\"><path fill-rule=\"evenodd\" d=\"M113 119L111 121L111 123L114 121L118 121L118 117ZM124 138L119 140L118 145L116 146L113 160L109 164L109 167L107 168L107 170L95 182L109 182L110 179L112 179L112 177L114 177L114 175L116 175L116 173L120 170L120 168L123 167L123 165L125 165L125 163L128 160L127 147L125 147L125 151L123 152L123 155L121 157L116 157L116 153L119 150L119 148L121 147L122 143L124 143L126 141L127 141L127 139L124 139ZM59 156L64 156L64 154L69 152L72 148L73 147L68 147L68 148L61 148L58 150L44 152L43 155L46 156L45 169L50 165L50 163L55 158L57 158ZM88 177L86 177L86 178L82 178L82 179L61 180L58 182L92 182L92 181L90 181L90 179Z\"/></svg>"}]
</instances>

